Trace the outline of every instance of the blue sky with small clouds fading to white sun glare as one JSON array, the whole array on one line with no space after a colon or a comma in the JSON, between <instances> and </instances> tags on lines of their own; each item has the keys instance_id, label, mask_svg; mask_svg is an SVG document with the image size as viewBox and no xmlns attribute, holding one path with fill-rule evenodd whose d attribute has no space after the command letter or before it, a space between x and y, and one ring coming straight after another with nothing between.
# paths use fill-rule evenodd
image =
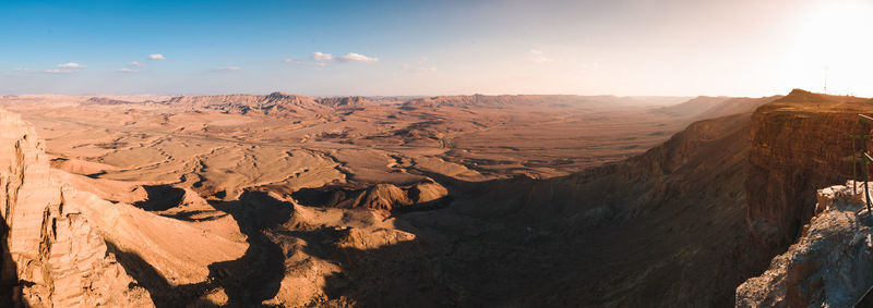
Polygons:
<instances>
[{"instance_id":1,"label":"blue sky with small clouds fading to white sun glare","mask_svg":"<svg viewBox=\"0 0 873 308\"><path fill-rule=\"evenodd\" d=\"M0 2L0 94L873 97L870 0Z\"/></svg>"}]
</instances>

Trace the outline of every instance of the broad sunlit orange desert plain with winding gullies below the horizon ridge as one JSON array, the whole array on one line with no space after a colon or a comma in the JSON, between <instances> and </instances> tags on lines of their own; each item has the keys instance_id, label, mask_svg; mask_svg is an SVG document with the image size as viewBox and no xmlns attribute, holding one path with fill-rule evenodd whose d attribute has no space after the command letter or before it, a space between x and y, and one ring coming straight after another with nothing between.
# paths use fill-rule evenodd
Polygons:
<instances>
[{"instance_id":1,"label":"broad sunlit orange desert plain with winding gullies below the horizon ridge","mask_svg":"<svg viewBox=\"0 0 873 308\"><path fill-rule=\"evenodd\" d=\"M295 189L333 182L421 181L412 170L470 181L517 174L553 177L639 153L690 123L684 114L654 108L685 98L470 96L316 102L273 94L256 103L291 106L230 107L251 99L258 97L182 97L159 103L21 96L2 100L2 106L37 127L48 152L64 160L59 164L91 167L73 173L154 184L187 178L228 190L231 197L263 185Z\"/></svg>"}]
</instances>

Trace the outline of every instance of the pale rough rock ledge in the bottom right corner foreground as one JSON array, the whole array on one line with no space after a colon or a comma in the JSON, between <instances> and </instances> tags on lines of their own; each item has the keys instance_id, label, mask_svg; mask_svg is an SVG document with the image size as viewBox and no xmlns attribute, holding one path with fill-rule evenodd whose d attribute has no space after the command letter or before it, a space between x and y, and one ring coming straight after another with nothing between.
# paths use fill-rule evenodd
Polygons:
<instances>
[{"instance_id":1,"label":"pale rough rock ledge in the bottom right corner foreground","mask_svg":"<svg viewBox=\"0 0 873 308\"><path fill-rule=\"evenodd\" d=\"M818 190L803 235L737 288L737 307L851 307L863 296L873 285L873 219L852 184Z\"/></svg>"}]
</instances>

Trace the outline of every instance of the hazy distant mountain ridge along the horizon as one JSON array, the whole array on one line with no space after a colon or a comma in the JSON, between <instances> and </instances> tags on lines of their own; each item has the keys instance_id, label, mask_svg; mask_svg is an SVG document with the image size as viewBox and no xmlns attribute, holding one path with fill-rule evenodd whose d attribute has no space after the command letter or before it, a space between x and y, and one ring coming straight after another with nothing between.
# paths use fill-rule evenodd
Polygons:
<instances>
[{"instance_id":1,"label":"hazy distant mountain ridge along the horizon","mask_svg":"<svg viewBox=\"0 0 873 308\"><path fill-rule=\"evenodd\" d=\"M92 97L86 104L158 103L188 109L216 110L225 113L264 115L311 115L330 113L333 110L364 108L373 104L400 103L403 108L468 108L468 107L578 107L578 108L627 108L665 106L653 112L702 120L728 114L751 112L769 101L765 98L733 97L620 97L611 95L457 95L435 97L409 96L348 96L309 97L296 94L272 93L270 95L205 95L177 96L163 101L128 101L109 97Z\"/></svg>"}]
</instances>

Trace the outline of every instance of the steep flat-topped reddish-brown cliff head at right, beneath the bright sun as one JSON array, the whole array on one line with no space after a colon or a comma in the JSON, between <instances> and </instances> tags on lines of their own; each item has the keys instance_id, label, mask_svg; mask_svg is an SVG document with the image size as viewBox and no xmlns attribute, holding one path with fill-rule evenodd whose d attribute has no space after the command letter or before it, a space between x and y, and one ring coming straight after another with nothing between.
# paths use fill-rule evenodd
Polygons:
<instances>
[{"instance_id":1,"label":"steep flat-topped reddish-brown cliff head at right, beneath the bright sun","mask_svg":"<svg viewBox=\"0 0 873 308\"><path fill-rule=\"evenodd\" d=\"M846 136L858 113L873 112L868 101L793 90L753 114L745 223L766 254L794 242L813 215L816 187L851 176Z\"/></svg>"}]
</instances>

